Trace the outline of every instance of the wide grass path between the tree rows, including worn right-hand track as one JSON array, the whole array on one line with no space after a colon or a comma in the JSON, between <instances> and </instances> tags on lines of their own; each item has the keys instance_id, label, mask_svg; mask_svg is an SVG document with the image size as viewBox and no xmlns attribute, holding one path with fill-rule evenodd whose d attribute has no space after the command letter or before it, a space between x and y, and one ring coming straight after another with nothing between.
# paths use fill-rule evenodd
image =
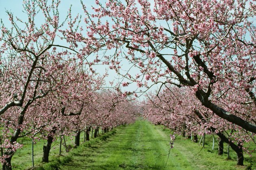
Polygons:
<instances>
[{"instance_id":1,"label":"wide grass path between the tree rows, including worn right-hand track","mask_svg":"<svg viewBox=\"0 0 256 170\"><path fill-rule=\"evenodd\" d=\"M217 153L202 151L202 146L189 140L175 141L169 159L169 131L148 121L136 121L119 127L106 141L82 147L73 153L72 161L61 170L201 170L245 169L236 161L225 160ZM81 147L81 146L79 146ZM166 165L166 166L165 166Z\"/></svg>"}]
</instances>

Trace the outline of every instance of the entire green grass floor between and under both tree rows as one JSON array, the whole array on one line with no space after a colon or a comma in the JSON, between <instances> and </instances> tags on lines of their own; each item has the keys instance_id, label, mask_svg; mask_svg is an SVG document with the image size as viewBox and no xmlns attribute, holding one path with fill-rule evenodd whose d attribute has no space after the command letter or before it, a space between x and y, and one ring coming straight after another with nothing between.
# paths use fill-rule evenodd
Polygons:
<instances>
[{"instance_id":1,"label":"entire green grass floor between and under both tree rows","mask_svg":"<svg viewBox=\"0 0 256 170\"><path fill-rule=\"evenodd\" d=\"M40 163L43 142L39 142L37 148L35 147L36 166L39 170L57 168L61 170L240 170L246 169L247 166L251 169L256 168L255 153L253 157L244 154L246 166L236 166L236 154L232 149L230 149L231 159L226 159L225 149L224 154L219 156L217 143L212 150L212 136L206 136L204 148L202 144L178 136L168 158L169 133L170 130L163 126L138 120L134 124L117 127L114 131L101 134L99 138L82 143L68 154L63 151L65 156L60 157L56 156L59 152L59 143L56 141L56 148L50 151L48 164ZM200 139L200 136L198 138ZM31 142L30 140L24 142L28 142L26 147L21 149L20 153L15 153L15 159L13 158L12 163L15 164L16 169L31 167ZM68 142L71 144L70 140ZM224 146L227 148L226 145Z\"/></svg>"}]
</instances>

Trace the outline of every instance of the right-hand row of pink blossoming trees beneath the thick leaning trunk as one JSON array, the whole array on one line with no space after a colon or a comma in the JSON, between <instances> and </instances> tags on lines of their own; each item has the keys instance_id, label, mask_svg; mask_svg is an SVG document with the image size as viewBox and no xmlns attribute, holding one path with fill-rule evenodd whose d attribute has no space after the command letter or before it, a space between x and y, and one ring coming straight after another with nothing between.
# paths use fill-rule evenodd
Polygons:
<instances>
[{"instance_id":1,"label":"right-hand row of pink blossoming trees beneath the thick leaning trunk","mask_svg":"<svg viewBox=\"0 0 256 170\"><path fill-rule=\"evenodd\" d=\"M237 105L236 112L244 112L248 115L254 112L250 109L253 108L253 103L250 105L233 103L233 101L229 101L228 104L218 103L222 107L234 104ZM153 94L148 95L144 109L144 116L153 123L173 129L176 135L182 133L184 136L185 132L187 136L193 134L194 142L197 142L197 134L218 136L219 154L223 154L223 142L228 143L237 154L237 165L243 165L243 150L249 154L252 152L249 151L248 146L249 143L254 143L254 134L213 114L195 98L191 87L166 87L157 97ZM171 137L173 141L175 136L173 138L172 134Z\"/></svg>"}]
</instances>

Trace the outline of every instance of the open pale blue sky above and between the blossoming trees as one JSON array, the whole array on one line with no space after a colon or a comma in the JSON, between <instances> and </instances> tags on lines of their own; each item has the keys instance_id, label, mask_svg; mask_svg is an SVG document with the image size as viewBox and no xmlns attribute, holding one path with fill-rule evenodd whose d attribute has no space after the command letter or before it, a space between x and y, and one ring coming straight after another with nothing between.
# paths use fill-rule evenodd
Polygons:
<instances>
[{"instance_id":1,"label":"open pale blue sky above and between the blossoming trees","mask_svg":"<svg viewBox=\"0 0 256 170\"><path fill-rule=\"evenodd\" d=\"M100 0L100 2L104 2L105 0ZM94 0L84 0L84 4L87 6L87 10L89 12L93 12L91 9L91 6L94 5ZM9 17L7 16L7 13L5 11L11 11L13 13L13 16L18 16L21 19L26 18L26 15L22 12L23 9L23 0L0 0L0 18L2 19L5 26L10 26ZM61 4L59 6L59 13L60 13L60 21L63 21L67 15L67 11L69 10L69 7L72 5L72 16L76 16L78 13L83 14L82 7L80 5L80 0L61 0ZM82 17L83 21L83 17ZM38 20L40 22L40 19ZM58 40L57 40L58 41ZM58 42L56 42L58 43ZM59 42L62 43L62 42ZM94 59L93 56L90 56L91 59ZM90 60L90 59L89 59ZM123 68L128 69L130 68L130 65L124 64ZM96 65L93 67L93 69L96 70L96 72L103 75L106 72L106 69L108 69L105 65ZM139 72L139 69L132 69L129 72L131 75L136 75ZM120 75L117 75L115 71L108 70L108 77L105 79L106 81L106 87L111 86L109 82L114 82L115 84L121 84L121 82L126 82L128 80L123 80L123 78ZM150 82L149 82L150 85ZM159 88L160 85L154 85L152 88L150 88L149 91L156 91ZM132 83L129 84L128 87L122 87L120 86L123 91L138 91L137 84ZM145 88L140 88L139 90L145 90ZM139 95L139 94L138 94ZM144 96L139 97L139 100L145 99Z\"/></svg>"}]
</instances>

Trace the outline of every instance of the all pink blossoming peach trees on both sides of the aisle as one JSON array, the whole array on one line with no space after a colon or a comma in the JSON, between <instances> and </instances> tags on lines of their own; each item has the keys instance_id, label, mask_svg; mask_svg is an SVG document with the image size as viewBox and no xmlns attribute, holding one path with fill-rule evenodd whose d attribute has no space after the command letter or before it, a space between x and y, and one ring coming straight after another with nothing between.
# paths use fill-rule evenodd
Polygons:
<instances>
[{"instance_id":1,"label":"all pink blossoming peach trees on both sides of the aisle","mask_svg":"<svg viewBox=\"0 0 256 170\"><path fill-rule=\"evenodd\" d=\"M126 98L154 84L146 117L178 132L215 133L243 164L244 143L255 144L256 133L253 0L95 0L91 9L81 1L82 13L70 8L65 19L61 5L26 0L25 18L7 11L10 23L1 23L4 169L23 136L130 121L137 107ZM115 91L102 90L107 73L94 65L119 74Z\"/></svg>"}]
</instances>

